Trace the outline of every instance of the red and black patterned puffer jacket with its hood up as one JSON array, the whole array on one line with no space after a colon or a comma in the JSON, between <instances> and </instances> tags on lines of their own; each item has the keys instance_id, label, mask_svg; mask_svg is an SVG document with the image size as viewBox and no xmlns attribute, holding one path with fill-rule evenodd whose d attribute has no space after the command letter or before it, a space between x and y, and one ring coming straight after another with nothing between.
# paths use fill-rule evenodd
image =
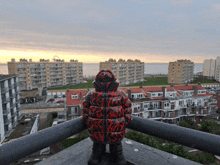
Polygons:
<instances>
[{"instance_id":1,"label":"red and black patterned puffer jacket with its hood up","mask_svg":"<svg viewBox=\"0 0 220 165\"><path fill-rule=\"evenodd\" d=\"M95 90L89 91L83 102L83 122L88 126L92 141L120 142L126 125L131 121L131 102L111 70L101 70L93 81Z\"/></svg>"}]
</instances>

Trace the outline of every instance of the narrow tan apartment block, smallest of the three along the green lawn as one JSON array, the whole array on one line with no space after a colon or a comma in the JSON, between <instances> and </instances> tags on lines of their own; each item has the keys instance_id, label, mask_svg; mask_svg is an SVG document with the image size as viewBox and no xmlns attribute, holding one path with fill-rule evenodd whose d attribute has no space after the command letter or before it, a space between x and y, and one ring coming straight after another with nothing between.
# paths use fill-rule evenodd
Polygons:
<instances>
[{"instance_id":1,"label":"narrow tan apartment block, smallest of the three along the green lawn","mask_svg":"<svg viewBox=\"0 0 220 165\"><path fill-rule=\"evenodd\" d=\"M177 60L169 63L168 83L184 84L193 81L194 62Z\"/></svg>"}]
</instances>

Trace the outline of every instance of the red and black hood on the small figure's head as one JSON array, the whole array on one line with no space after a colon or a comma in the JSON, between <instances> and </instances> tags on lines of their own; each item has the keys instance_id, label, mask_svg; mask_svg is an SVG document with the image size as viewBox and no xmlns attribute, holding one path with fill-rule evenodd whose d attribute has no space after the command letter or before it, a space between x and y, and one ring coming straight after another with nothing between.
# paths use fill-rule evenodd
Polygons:
<instances>
[{"instance_id":1,"label":"red and black hood on the small figure's head","mask_svg":"<svg viewBox=\"0 0 220 165\"><path fill-rule=\"evenodd\" d=\"M93 86L97 91L116 91L119 82L116 81L116 77L110 69L100 70L93 81Z\"/></svg>"}]
</instances>

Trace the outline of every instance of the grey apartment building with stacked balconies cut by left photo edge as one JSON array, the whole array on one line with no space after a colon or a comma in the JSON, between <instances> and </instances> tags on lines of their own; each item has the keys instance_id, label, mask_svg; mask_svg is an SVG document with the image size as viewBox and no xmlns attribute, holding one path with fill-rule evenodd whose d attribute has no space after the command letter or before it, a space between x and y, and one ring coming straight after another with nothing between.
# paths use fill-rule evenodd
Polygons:
<instances>
[{"instance_id":1,"label":"grey apartment building with stacked balconies cut by left photo edge","mask_svg":"<svg viewBox=\"0 0 220 165\"><path fill-rule=\"evenodd\" d=\"M0 75L0 143L21 119L19 84L16 75Z\"/></svg>"}]
</instances>

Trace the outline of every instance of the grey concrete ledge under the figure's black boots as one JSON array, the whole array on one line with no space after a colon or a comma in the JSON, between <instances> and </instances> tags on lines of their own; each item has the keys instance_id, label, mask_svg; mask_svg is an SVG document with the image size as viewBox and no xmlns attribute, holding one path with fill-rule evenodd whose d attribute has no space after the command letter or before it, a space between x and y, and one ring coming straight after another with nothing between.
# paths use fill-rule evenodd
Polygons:
<instances>
[{"instance_id":1,"label":"grey concrete ledge under the figure's black boots","mask_svg":"<svg viewBox=\"0 0 220 165\"><path fill-rule=\"evenodd\" d=\"M127 140L131 142L131 144L127 144ZM87 165L92 153L92 145L93 142L90 138L84 139L36 165ZM127 138L122 140L122 146L125 159L135 165L199 165L197 162L184 159ZM106 151L109 153L108 145L106 145ZM103 161L100 165L104 164L107 164L107 162Z\"/></svg>"}]
</instances>

